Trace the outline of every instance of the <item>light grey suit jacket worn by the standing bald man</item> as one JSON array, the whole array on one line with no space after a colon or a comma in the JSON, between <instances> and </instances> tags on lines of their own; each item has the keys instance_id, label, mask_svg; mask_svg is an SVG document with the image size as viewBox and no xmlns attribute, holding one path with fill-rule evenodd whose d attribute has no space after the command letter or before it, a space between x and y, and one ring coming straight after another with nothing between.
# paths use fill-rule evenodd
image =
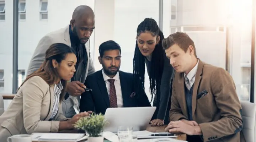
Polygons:
<instances>
[{"instance_id":1,"label":"light grey suit jacket worn by the standing bald man","mask_svg":"<svg viewBox=\"0 0 256 142\"><path fill-rule=\"evenodd\" d=\"M39 41L36 50L34 51L34 54L32 56L32 59L30 61L30 64L28 66L27 75L30 75L31 73L39 69L39 67L45 60L46 50L50 47L50 45L54 43L64 43L71 47L69 25L65 28L59 29L58 31L48 33ZM92 59L89 56L90 40L88 40L88 42L85 44L85 48L88 58L87 64L86 66L84 66L84 64L79 65L78 69L76 70L76 77L74 78L75 81L80 81L82 83L85 82L87 75L90 75L95 72ZM80 96L73 97L70 95L69 98L64 100L62 103L63 114L67 118L73 117L76 114L74 108L76 108L79 111L79 104Z\"/></svg>"}]
</instances>

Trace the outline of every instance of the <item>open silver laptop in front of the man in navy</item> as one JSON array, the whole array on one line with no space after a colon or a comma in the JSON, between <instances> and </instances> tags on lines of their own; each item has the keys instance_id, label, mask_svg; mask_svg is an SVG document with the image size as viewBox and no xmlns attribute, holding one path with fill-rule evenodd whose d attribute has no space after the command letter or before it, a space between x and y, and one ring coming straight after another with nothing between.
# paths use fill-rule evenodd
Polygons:
<instances>
[{"instance_id":1,"label":"open silver laptop in front of the man in navy","mask_svg":"<svg viewBox=\"0 0 256 142\"><path fill-rule=\"evenodd\" d=\"M156 107L107 108L103 131L117 133L119 126L133 127L133 131L143 131L149 122Z\"/></svg>"}]
</instances>

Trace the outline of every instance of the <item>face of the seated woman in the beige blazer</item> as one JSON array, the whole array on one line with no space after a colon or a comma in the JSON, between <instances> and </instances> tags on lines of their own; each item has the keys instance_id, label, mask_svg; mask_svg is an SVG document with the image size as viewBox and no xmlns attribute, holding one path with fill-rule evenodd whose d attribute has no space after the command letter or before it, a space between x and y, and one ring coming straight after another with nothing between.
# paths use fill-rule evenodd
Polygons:
<instances>
[{"instance_id":1,"label":"face of the seated woman in the beige blazer","mask_svg":"<svg viewBox=\"0 0 256 142\"><path fill-rule=\"evenodd\" d=\"M75 64L76 55L74 53L67 54L66 58L56 66L60 79L69 81L76 71Z\"/></svg>"}]
</instances>

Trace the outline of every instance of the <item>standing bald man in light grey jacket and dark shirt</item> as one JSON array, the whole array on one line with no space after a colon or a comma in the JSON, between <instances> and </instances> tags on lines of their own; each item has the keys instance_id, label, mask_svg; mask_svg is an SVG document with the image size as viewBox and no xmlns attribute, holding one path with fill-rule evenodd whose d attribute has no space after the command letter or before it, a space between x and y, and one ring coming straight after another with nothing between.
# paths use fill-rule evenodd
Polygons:
<instances>
[{"instance_id":1,"label":"standing bald man in light grey jacket and dark shirt","mask_svg":"<svg viewBox=\"0 0 256 142\"><path fill-rule=\"evenodd\" d=\"M67 118L79 112L80 95L85 92L84 82L87 75L95 72L90 57L90 36L95 28L95 15L89 6L81 5L73 12L70 24L58 31L45 35L38 43L28 66L27 75L39 69L45 60L46 50L54 43L64 43L76 51L76 72L67 83L65 99L62 103L63 114ZM57 88L61 90L61 88ZM53 92L58 95L58 91ZM55 102L53 102L55 103ZM58 104L56 104L58 106Z\"/></svg>"}]
</instances>

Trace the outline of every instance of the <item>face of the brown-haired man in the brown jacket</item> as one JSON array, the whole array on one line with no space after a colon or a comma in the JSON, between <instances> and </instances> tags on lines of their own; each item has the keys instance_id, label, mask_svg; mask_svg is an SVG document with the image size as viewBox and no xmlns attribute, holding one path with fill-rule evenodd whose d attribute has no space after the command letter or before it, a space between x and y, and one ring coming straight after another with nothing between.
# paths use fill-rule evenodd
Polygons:
<instances>
[{"instance_id":1,"label":"face of the brown-haired man in the brown jacket","mask_svg":"<svg viewBox=\"0 0 256 142\"><path fill-rule=\"evenodd\" d=\"M177 44L172 45L165 50L166 56L170 59L170 64L177 72L186 72L190 69L192 64L193 47L190 46L185 52Z\"/></svg>"}]
</instances>

